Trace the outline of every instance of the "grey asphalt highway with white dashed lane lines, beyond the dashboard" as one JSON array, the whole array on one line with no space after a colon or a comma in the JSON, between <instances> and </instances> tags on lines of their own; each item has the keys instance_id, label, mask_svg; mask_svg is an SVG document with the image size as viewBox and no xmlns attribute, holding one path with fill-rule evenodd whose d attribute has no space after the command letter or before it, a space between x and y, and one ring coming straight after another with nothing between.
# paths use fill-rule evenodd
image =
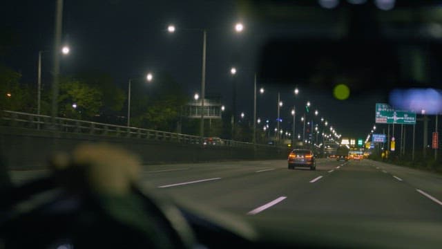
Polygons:
<instances>
[{"instance_id":1,"label":"grey asphalt highway with white dashed lane lines, beyond the dashboard","mask_svg":"<svg viewBox=\"0 0 442 249\"><path fill-rule=\"evenodd\" d=\"M319 159L316 171L287 169L286 160L151 165L142 182L237 214L290 210L442 221L442 176L372 160Z\"/></svg>"}]
</instances>

